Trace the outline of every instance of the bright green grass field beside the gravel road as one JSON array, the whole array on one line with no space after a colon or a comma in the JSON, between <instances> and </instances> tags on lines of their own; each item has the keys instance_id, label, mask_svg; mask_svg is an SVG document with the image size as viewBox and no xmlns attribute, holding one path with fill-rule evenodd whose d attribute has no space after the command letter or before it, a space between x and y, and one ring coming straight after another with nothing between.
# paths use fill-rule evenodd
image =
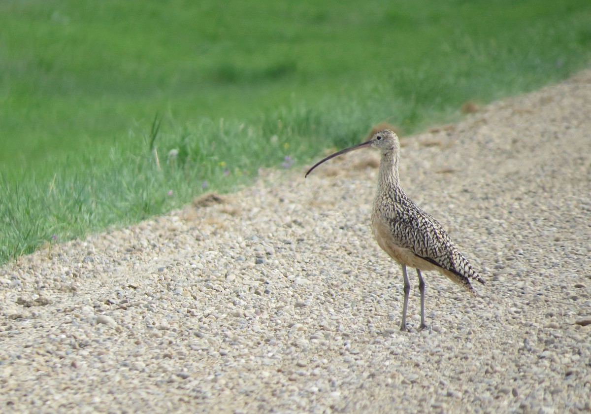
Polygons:
<instances>
[{"instance_id":1,"label":"bright green grass field beside the gravel road","mask_svg":"<svg viewBox=\"0 0 591 414\"><path fill-rule=\"evenodd\" d=\"M0 263L556 82L590 21L587 0L5 0Z\"/></svg>"}]
</instances>

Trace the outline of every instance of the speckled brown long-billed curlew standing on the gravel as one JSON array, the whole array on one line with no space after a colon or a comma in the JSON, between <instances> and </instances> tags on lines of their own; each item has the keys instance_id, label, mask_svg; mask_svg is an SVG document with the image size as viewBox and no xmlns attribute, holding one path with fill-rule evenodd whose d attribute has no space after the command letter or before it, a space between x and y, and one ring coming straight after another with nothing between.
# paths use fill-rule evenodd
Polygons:
<instances>
[{"instance_id":1,"label":"speckled brown long-billed curlew standing on the gravel","mask_svg":"<svg viewBox=\"0 0 591 414\"><path fill-rule=\"evenodd\" d=\"M407 329L406 313L410 284L406 267L417 269L418 289L421 293L421 326L425 328L425 281L421 270L437 270L466 290L476 295L470 279L484 283L460 253L439 222L419 208L402 190L398 178L400 143L390 130L376 132L371 140L338 151L314 164L306 177L324 161L359 148L374 147L381 152L378 189L371 213L371 227L379 247L402 266L404 276L404 305L400 330Z\"/></svg>"}]
</instances>

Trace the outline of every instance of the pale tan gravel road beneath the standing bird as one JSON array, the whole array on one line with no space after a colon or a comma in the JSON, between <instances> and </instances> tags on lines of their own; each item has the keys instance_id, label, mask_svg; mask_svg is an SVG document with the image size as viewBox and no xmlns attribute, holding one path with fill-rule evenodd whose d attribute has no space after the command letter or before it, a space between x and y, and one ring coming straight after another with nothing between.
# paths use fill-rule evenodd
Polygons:
<instances>
[{"instance_id":1,"label":"pale tan gravel road beneath the standing bird","mask_svg":"<svg viewBox=\"0 0 591 414\"><path fill-rule=\"evenodd\" d=\"M371 150L0 267L0 410L591 410L589 114L591 71L402 138L402 185L487 281L427 272L422 332Z\"/></svg>"}]
</instances>

